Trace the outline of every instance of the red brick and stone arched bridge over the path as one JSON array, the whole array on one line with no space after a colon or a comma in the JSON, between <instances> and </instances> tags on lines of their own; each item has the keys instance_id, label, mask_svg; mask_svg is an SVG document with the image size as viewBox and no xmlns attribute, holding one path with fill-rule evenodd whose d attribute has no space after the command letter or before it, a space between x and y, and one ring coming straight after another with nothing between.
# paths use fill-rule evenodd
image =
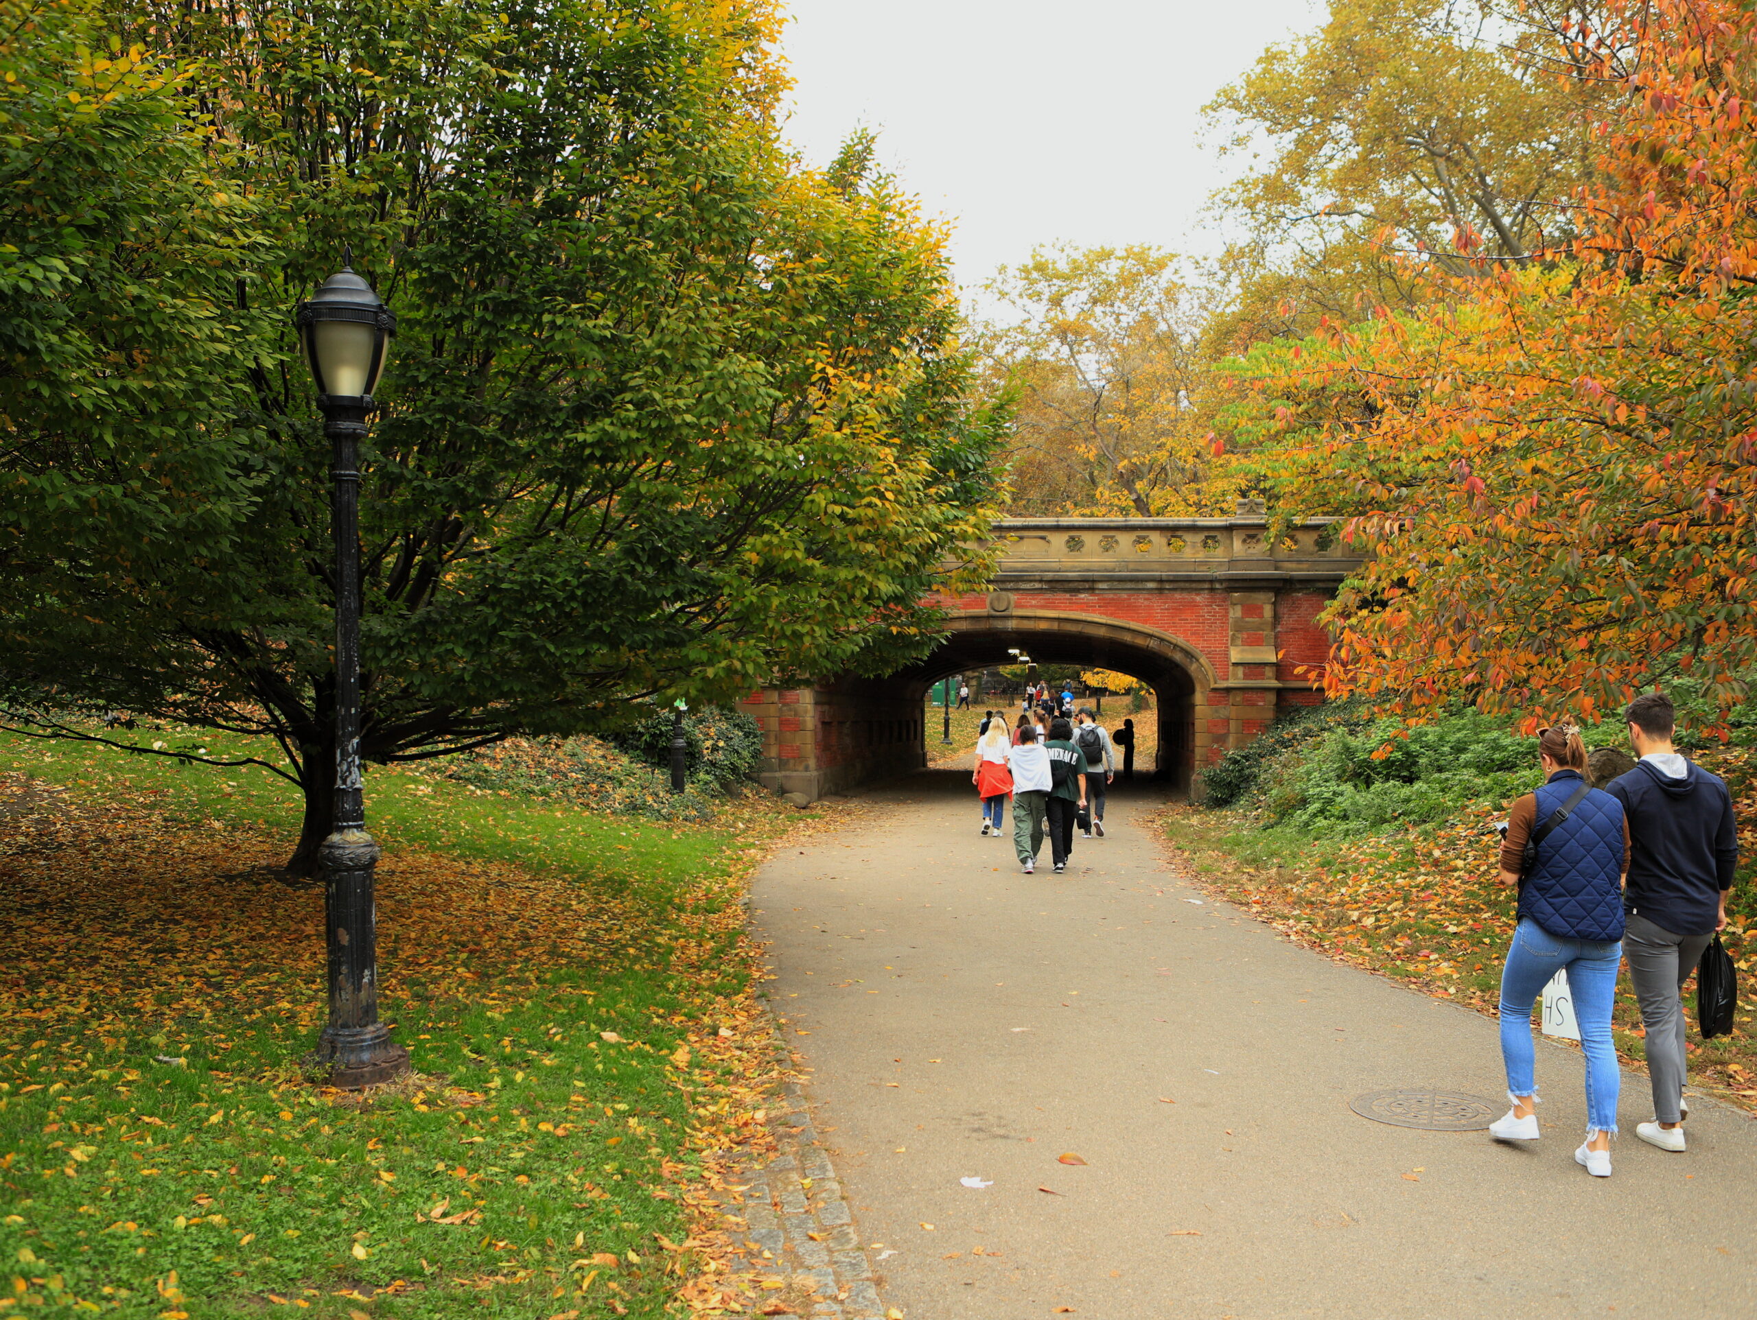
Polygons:
<instances>
[{"instance_id":1,"label":"red brick and stone arched bridge over the path","mask_svg":"<svg viewBox=\"0 0 1757 1320\"><path fill-rule=\"evenodd\" d=\"M1188 788L1204 765L1262 732L1277 707L1320 700L1307 665L1328 656L1316 623L1360 563L1328 523L1270 544L1260 511L1237 518L1016 518L986 593L945 597L945 641L884 679L764 688L766 785L806 797L928 764L924 700L942 678L1010 664L1077 664L1133 674L1158 700L1153 767Z\"/></svg>"}]
</instances>

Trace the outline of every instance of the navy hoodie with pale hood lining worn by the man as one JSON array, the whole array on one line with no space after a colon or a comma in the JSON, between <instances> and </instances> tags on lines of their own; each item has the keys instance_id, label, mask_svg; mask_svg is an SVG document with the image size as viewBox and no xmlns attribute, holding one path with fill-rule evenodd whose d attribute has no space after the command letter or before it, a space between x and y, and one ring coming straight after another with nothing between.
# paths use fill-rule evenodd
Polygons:
<instances>
[{"instance_id":1,"label":"navy hoodie with pale hood lining worn by the man","mask_svg":"<svg viewBox=\"0 0 1757 1320\"><path fill-rule=\"evenodd\" d=\"M1727 786L1694 764L1673 779L1643 760L1604 792L1629 816L1629 915L1674 936L1711 932L1720 918L1720 890L1732 888L1739 860Z\"/></svg>"}]
</instances>

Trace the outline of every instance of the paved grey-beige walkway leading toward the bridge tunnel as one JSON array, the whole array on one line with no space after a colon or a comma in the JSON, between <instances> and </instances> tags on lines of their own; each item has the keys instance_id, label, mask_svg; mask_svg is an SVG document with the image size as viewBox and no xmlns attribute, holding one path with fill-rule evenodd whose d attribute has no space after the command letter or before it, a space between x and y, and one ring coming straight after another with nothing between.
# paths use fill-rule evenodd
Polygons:
<instances>
[{"instance_id":1,"label":"paved grey-beige walkway leading toward the bridge tunnel","mask_svg":"<svg viewBox=\"0 0 1757 1320\"><path fill-rule=\"evenodd\" d=\"M1562 1046L1539 1050L1532 1146L1358 1118L1390 1087L1500 1097L1495 1025L1181 885L1137 825L1156 804L1114 797L1066 876L1047 848L1023 876L977 836L968 774L922 772L759 872L777 1006L887 1306L1757 1316L1757 1123L1701 1101L1690 1153L1653 1150L1629 1076L1616 1173L1588 1178Z\"/></svg>"}]
</instances>

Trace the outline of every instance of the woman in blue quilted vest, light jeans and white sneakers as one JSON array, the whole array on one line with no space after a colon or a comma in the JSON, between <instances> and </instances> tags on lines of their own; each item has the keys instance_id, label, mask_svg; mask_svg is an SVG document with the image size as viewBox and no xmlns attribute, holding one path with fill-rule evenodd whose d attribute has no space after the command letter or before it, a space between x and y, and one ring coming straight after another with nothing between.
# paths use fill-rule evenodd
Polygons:
<instances>
[{"instance_id":1,"label":"woman in blue quilted vest, light jeans and white sneakers","mask_svg":"<svg viewBox=\"0 0 1757 1320\"><path fill-rule=\"evenodd\" d=\"M1513 1109L1488 1132L1497 1141L1537 1139L1532 1004L1550 978L1567 971L1587 1055L1587 1139L1574 1160L1595 1178L1609 1178L1622 1083L1611 1006L1623 957L1629 825L1622 802L1587 785L1587 744L1578 728L1544 728L1537 757L1544 785L1513 804L1500 846L1500 881L1520 893L1520 923L1500 972L1500 1055Z\"/></svg>"}]
</instances>

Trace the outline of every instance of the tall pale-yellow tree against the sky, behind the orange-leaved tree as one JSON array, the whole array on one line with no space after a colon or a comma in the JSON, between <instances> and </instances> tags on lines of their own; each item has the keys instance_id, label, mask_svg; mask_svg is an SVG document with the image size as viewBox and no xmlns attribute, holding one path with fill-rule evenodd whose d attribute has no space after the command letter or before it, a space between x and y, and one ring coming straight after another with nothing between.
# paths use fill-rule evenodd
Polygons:
<instances>
[{"instance_id":1,"label":"tall pale-yellow tree against the sky, behind the orange-leaved tree","mask_svg":"<svg viewBox=\"0 0 1757 1320\"><path fill-rule=\"evenodd\" d=\"M1207 105L1218 146L1263 161L1214 198L1246 235L1218 339L1416 305L1425 267L1469 274L1569 239L1611 95L1573 58L1590 26L1557 0L1330 0L1321 28L1265 49Z\"/></svg>"}]
</instances>

